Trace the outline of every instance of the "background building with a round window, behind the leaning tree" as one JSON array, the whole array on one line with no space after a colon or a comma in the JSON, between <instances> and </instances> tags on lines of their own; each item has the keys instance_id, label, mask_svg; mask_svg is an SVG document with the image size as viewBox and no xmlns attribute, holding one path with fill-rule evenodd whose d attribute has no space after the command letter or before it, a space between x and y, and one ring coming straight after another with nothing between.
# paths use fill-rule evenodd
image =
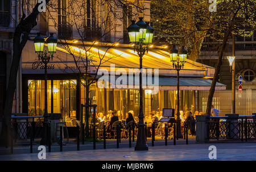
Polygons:
<instances>
[{"instance_id":1,"label":"background building with a round window, behind the leaning tree","mask_svg":"<svg viewBox=\"0 0 256 172\"><path fill-rule=\"evenodd\" d=\"M197 62L215 67L218 60L218 45L220 42L213 42L205 38L201 48L201 54ZM232 55L232 39L228 41L222 67L218 81L226 85L226 91L216 91L214 93L213 105L220 109L221 114L229 114L232 108L232 72L230 71L229 62L226 58ZM235 36L235 72L236 72L236 113L240 115L251 115L256 111L256 32L251 37ZM242 76L242 92L238 91L239 76ZM200 107L205 111L207 104L208 92L201 92Z\"/></svg>"}]
</instances>

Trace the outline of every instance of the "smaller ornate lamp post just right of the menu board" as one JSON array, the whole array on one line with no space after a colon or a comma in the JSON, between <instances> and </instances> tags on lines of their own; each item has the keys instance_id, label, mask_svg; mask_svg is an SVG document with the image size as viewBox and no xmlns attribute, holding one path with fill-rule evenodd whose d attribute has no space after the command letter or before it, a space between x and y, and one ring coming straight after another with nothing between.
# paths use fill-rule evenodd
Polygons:
<instances>
[{"instance_id":1,"label":"smaller ornate lamp post just right of the menu board","mask_svg":"<svg viewBox=\"0 0 256 172\"><path fill-rule=\"evenodd\" d=\"M179 83L179 72L181 68L184 67L184 63L187 60L187 50L184 49L184 46L180 51L175 48L175 45L172 47L170 51L170 58L172 62L172 66L177 71L177 114L176 114L176 121L177 121L177 136L178 138L182 138L183 135L181 134L181 127L180 127L180 83Z\"/></svg>"}]
</instances>

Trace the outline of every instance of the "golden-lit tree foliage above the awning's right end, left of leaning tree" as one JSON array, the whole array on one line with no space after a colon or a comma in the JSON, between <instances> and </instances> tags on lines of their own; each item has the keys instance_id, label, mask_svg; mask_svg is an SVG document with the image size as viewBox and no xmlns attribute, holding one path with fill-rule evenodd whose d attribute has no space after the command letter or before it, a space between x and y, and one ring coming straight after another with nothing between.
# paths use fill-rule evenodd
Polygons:
<instances>
[{"instance_id":1,"label":"golden-lit tree foliage above the awning's right end, left of leaning tree","mask_svg":"<svg viewBox=\"0 0 256 172\"><path fill-rule=\"evenodd\" d=\"M187 46L189 59L196 61L209 29L208 8L209 3L204 0L152 0L155 35L167 36L166 41L171 44Z\"/></svg>"}]
</instances>

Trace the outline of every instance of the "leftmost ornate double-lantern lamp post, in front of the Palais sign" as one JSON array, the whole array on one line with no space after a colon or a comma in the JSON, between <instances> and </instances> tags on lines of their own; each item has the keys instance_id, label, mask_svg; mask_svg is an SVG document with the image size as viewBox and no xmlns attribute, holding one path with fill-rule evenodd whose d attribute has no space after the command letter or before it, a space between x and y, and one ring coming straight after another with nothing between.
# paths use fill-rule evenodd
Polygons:
<instances>
[{"instance_id":1,"label":"leftmost ornate double-lantern lamp post, in front of the Palais sign","mask_svg":"<svg viewBox=\"0 0 256 172\"><path fill-rule=\"evenodd\" d=\"M42 140L40 141L41 145L47 144L47 126L49 126L50 123L47 109L47 64L50 59L53 58L53 54L56 53L57 39L53 36L53 33L47 38L46 43L48 46L48 53L46 50L43 50L44 38L38 33L38 36L34 39L35 52L38 53L39 61L41 60L44 63L44 129Z\"/></svg>"}]
</instances>

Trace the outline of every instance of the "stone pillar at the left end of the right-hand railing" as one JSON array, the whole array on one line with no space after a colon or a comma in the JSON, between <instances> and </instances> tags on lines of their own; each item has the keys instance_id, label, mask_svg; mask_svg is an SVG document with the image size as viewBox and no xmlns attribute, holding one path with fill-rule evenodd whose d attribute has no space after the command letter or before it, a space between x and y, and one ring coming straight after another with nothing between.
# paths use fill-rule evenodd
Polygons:
<instances>
[{"instance_id":1,"label":"stone pillar at the left end of the right-hand railing","mask_svg":"<svg viewBox=\"0 0 256 172\"><path fill-rule=\"evenodd\" d=\"M210 115L196 115L196 143L209 142Z\"/></svg>"}]
</instances>

